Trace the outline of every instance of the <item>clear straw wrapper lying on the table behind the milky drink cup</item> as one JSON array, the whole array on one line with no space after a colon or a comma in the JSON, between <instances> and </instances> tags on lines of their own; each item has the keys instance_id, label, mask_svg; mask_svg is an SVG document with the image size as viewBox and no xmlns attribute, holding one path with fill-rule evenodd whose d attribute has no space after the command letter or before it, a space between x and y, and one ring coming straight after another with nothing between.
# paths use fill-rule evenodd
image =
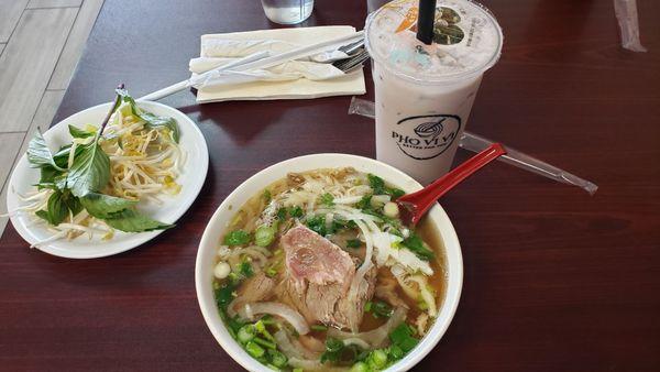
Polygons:
<instances>
[{"instance_id":1,"label":"clear straw wrapper lying on the table behind the milky drink cup","mask_svg":"<svg viewBox=\"0 0 660 372\"><path fill-rule=\"evenodd\" d=\"M349 114L360 114L374 119L374 102L353 97L353 99L351 99L351 106L349 107ZM493 144L493 141L468 131L463 131L463 135L460 138L460 140L459 146L472 152L480 152ZM590 195L594 195L598 189L598 186L594 183L580 178L576 175L558 168L554 165L548 164L508 146L505 146L505 150L507 153L497 157L497 160L501 162L519 167L520 169L536 173L550 179L554 179L562 184L580 187Z\"/></svg>"}]
</instances>

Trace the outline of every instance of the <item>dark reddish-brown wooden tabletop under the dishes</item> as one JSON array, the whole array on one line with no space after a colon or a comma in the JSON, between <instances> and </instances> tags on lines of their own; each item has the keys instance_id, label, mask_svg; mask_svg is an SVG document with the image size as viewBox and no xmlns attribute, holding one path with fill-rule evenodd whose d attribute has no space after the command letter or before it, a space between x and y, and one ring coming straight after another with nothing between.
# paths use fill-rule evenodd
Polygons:
<instances>
[{"instance_id":1,"label":"dark reddish-brown wooden tabletop under the dishes","mask_svg":"<svg viewBox=\"0 0 660 372\"><path fill-rule=\"evenodd\" d=\"M596 196L498 163L442 205L465 265L457 316L417 370L660 370L660 2L639 1L649 53L619 46L612 1L487 1L505 30L470 130L592 179ZM308 25L362 28L365 1L318 0ZM273 28L258 1L106 0L55 121L186 78L199 35ZM370 79L371 80L371 79ZM373 97L370 86L367 98ZM0 241L0 369L239 370L197 306L195 254L241 182L304 154L374 156L349 97L198 106L210 150L175 230L131 252L64 260ZM465 155L459 156L459 160Z\"/></svg>"}]
</instances>

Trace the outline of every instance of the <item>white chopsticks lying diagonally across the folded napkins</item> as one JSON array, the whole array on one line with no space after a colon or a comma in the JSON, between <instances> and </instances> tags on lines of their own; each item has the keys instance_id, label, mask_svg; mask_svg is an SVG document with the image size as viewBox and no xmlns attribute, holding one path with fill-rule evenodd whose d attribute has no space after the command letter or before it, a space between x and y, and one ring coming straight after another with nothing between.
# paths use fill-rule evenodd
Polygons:
<instances>
[{"instance_id":1,"label":"white chopsticks lying diagonally across the folded napkins","mask_svg":"<svg viewBox=\"0 0 660 372\"><path fill-rule=\"evenodd\" d=\"M364 31L358 31L356 33L351 34L351 35L344 35L344 36L334 37L334 39L331 39L331 40L328 40L328 41L324 41L321 43L301 46L299 48L296 48L296 50L293 50L289 52L284 52L284 53L280 53L280 54L277 54L274 56L271 56L270 53L265 52L265 51L257 52L257 53L251 54L244 58L233 61L227 65L223 65L223 66L213 68L211 70L208 70L206 73L199 74L198 76L195 76L194 79L187 79L184 81L179 81L179 83L170 85L166 88L156 90L152 94L148 94L144 97L139 98L139 100L158 100L163 97L173 95L177 91L187 89L189 87L197 86L198 83L206 80L208 77L211 77L212 75L218 74L219 72L224 72L224 70L245 72L245 70L250 70L250 69L256 69L256 68L268 68L268 67L277 66L277 65L288 62L288 61L308 57L310 55L324 52L331 47L339 47L341 45L350 44L350 43L361 40L362 37L364 37ZM266 55L264 55L264 53Z\"/></svg>"}]
</instances>

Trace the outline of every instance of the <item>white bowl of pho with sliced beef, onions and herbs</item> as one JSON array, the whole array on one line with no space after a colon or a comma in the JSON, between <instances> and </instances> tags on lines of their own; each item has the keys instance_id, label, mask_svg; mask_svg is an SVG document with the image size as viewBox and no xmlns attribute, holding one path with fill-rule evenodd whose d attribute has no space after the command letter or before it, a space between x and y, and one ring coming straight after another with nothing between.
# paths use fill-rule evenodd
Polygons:
<instances>
[{"instance_id":1,"label":"white bowl of pho with sliced beef, onions and herbs","mask_svg":"<svg viewBox=\"0 0 660 372\"><path fill-rule=\"evenodd\" d=\"M378 161L315 154L270 166L218 207L196 289L220 346L250 371L402 371L458 307L463 264L436 205L417 226L399 196L421 185Z\"/></svg>"}]
</instances>

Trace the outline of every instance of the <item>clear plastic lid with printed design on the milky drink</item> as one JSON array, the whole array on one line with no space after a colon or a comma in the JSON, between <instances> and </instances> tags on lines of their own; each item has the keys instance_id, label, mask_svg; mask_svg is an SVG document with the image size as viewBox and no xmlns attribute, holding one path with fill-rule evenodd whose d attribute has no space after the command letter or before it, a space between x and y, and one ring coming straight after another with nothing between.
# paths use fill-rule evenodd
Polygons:
<instances>
[{"instance_id":1,"label":"clear plastic lid with printed design on the milky drink","mask_svg":"<svg viewBox=\"0 0 660 372\"><path fill-rule=\"evenodd\" d=\"M433 43L417 40L418 0L395 0L366 20L370 55L397 75L438 83L469 78L492 67L503 34L493 14L470 0L438 0Z\"/></svg>"}]
</instances>

